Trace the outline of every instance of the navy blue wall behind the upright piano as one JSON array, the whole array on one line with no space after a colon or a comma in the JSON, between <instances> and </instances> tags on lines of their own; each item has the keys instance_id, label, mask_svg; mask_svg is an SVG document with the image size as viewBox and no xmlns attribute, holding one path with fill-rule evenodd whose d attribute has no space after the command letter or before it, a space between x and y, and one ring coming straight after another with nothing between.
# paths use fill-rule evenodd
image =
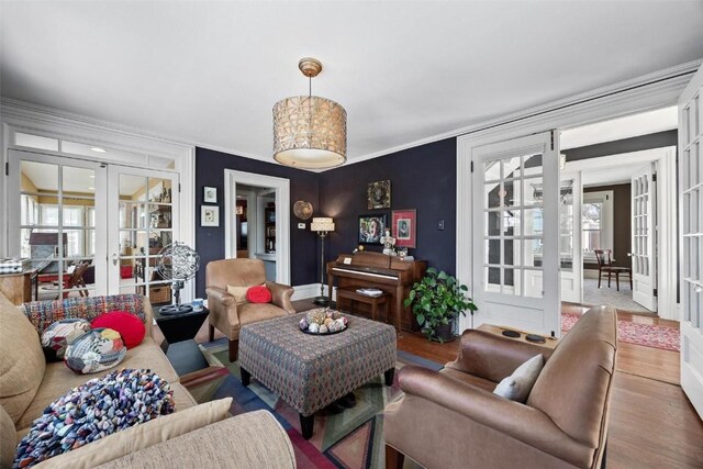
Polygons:
<instances>
[{"instance_id":1,"label":"navy blue wall behind the upright piano","mask_svg":"<svg viewBox=\"0 0 703 469\"><path fill-rule=\"evenodd\" d=\"M358 244L358 215L388 213L392 210L417 211L417 248L410 249L416 259L454 273L456 270L456 138L447 138L404 149L380 158L343 166L321 174L322 215L334 217L335 232L327 238L326 260L352 253ZM367 209L369 182L391 181L391 208ZM437 223L444 220L444 231ZM366 246L381 252L379 245Z\"/></svg>"}]
</instances>

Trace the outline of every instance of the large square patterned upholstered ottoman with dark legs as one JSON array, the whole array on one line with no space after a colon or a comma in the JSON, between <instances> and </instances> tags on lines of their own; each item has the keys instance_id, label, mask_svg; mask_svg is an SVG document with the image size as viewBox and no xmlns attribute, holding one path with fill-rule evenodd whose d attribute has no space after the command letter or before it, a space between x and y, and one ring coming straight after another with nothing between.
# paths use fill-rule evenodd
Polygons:
<instances>
[{"instance_id":1,"label":"large square patterned upholstered ottoman with dark legs","mask_svg":"<svg viewBox=\"0 0 703 469\"><path fill-rule=\"evenodd\" d=\"M347 315L348 327L333 335L309 335L302 314L247 324L239 332L242 383L254 377L300 414L303 438L313 433L314 413L384 373L393 382L395 328Z\"/></svg>"}]
</instances>

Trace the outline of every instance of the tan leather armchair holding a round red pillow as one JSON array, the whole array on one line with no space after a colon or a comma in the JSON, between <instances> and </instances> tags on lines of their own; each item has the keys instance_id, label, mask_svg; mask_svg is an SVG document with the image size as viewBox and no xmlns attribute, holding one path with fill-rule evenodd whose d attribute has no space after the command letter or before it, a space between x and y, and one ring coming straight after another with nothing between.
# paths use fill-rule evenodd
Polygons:
<instances>
[{"instance_id":1,"label":"tan leather armchair holding a round red pillow","mask_svg":"<svg viewBox=\"0 0 703 469\"><path fill-rule=\"evenodd\" d=\"M266 282L271 291L271 303L237 304L227 293L227 286L253 287ZM215 328L230 339L230 361L237 359L239 328L244 324L294 314L290 302L292 287L266 281L264 261L259 259L224 259L208 263L205 267L205 292L210 315L210 340Z\"/></svg>"}]
</instances>

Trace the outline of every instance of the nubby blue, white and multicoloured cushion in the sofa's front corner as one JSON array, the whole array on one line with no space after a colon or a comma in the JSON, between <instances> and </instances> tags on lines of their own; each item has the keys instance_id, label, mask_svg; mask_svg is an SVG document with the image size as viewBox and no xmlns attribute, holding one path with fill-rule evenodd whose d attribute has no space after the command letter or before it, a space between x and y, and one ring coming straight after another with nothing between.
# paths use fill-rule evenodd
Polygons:
<instances>
[{"instance_id":1,"label":"nubby blue, white and multicoloured cushion in the sofa's front corner","mask_svg":"<svg viewBox=\"0 0 703 469\"><path fill-rule=\"evenodd\" d=\"M18 445L14 464L26 467L172 412L170 386L157 375L113 371L52 403Z\"/></svg>"}]
</instances>

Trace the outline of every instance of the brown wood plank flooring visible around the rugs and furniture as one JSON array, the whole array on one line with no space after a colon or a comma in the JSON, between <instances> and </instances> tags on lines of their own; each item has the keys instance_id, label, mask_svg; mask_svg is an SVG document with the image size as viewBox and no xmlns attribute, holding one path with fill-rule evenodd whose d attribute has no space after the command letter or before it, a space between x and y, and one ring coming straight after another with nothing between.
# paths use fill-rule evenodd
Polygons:
<instances>
[{"instance_id":1,"label":"brown wood plank flooring visible around the rugs and furniture","mask_svg":"<svg viewBox=\"0 0 703 469\"><path fill-rule=\"evenodd\" d=\"M293 302L297 311L314 308ZM585 308L565 304L563 311ZM679 327L654 315L620 313L621 321ZM208 337L207 322L196 339ZM222 337L217 332L217 337ZM457 356L459 342L437 344L403 332L398 348L438 364ZM620 343L611 402L607 468L703 468L703 422L680 387L679 353Z\"/></svg>"}]
</instances>

